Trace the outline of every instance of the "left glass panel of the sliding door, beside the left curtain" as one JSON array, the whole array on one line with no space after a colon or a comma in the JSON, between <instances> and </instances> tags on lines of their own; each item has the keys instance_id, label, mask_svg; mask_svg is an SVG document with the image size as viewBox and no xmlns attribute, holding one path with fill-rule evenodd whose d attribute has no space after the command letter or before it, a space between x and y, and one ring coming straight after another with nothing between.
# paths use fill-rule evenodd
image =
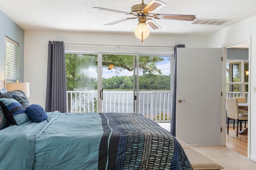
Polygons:
<instances>
[{"instance_id":1,"label":"left glass panel of the sliding door, beside the left curtain","mask_svg":"<svg viewBox=\"0 0 256 170\"><path fill-rule=\"evenodd\" d=\"M97 112L98 55L65 54L67 107L71 113Z\"/></svg>"}]
</instances>

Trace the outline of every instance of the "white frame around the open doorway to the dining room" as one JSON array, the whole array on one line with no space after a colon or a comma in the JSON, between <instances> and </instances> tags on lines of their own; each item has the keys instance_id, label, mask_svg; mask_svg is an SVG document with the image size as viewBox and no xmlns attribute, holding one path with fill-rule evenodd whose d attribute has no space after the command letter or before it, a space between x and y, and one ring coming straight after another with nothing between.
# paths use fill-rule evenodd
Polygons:
<instances>
[{"instance_id":1,"label":"white frame around the open doorway to the dining room","mask_svg":"<svg viewBox=\"0 0 256 170\"><path fill-rule=\"evenodd\" d=\"M224 86L224 94L225 94L225 96L226 96L226 61L227 61L227 48L228 47L232 47L232 46L234 46L234 45L238 45L238 44L241 44L241 43L245 43L245 42L249 42L249 49L248 49L248 51L249 51L249 53L248 53L248 60L249 60L249 72L251 72L251 68L252 68L252 64L251 64L251 60L252 60L252 55L251 55L251 41L252 41L252 36L247 36L247 37L244 37L244 38L242 38L242 39L237 39L237 40L234 40L234 41L232 41L232 42L230 42L230 43L227 43L227 44L223 44L222 45L222 55L223 55L223 60L225 61L225 62L223 62L223 63L225 63L224 65L223 65L223 78L225 79L225 81L224 81L224 84L223 84L223 86ZM249 74L249 79L248 79L248 147L247 147L247 158L248 159L250 159L250 154L251 154L251 130L250 130L250 128L251 128L251 113L250 113L250 103L251 103L251 95L250 95L250 87L251 87L251 76L250 76L250 74ZM223 100L223 117L222 117L222 119L223 119L223 127L226 127L226 98ZM226 128L225 128L226 129ZM222 134L223 136L222 136L222 143L223 143L223 145L226 145L226 133L223 133Z\"/></svg>"}]
</instances>

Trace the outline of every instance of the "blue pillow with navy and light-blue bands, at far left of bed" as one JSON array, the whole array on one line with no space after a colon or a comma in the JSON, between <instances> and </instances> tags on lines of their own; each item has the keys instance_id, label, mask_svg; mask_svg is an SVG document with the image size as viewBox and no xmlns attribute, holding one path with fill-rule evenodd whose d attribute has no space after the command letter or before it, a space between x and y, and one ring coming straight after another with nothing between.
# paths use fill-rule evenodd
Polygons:
<instances>
[{"instance_id":1,"label":"blue pillow with navy and light-blue bands, at far left of bed","mask_svg":"<svg viewBox=\"0 0 256 170\"><path fill-rule=\"evenodd\" d=\"M25 109L17 100L0 98L0 106L11 125L21 125L30 121Z\"/></svg>"}]
</instances>

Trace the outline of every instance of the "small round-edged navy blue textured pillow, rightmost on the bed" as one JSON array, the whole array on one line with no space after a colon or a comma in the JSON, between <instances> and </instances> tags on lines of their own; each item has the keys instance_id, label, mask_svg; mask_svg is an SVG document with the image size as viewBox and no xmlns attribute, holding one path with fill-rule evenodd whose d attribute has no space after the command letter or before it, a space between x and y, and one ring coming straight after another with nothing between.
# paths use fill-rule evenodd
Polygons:
<instances>
[{"instance_id":1,"label":"small round-edged navy blue textured pillow, rightmost on the bed","mask_svg":"<svg viewBox=\"0 0 256 170\"><path fill-rule=\"evenodd\" d=\"M46 119L48 119L48 115L46 114L44 108L37 104L32 104L26 108L26 112L28 113L28 116L32 119L34 122L42 122Z\"/></svg>"}]
</instances>

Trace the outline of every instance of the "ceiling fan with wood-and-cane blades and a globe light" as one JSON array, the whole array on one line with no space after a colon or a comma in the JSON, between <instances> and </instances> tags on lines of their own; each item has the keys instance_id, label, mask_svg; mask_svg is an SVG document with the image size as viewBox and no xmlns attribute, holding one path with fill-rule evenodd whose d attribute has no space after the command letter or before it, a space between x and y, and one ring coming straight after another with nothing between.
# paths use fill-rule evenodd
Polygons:
<instances>
[{"instance_id":1,"label":"ceiling fan with wood-and-cane blades and a globe light","mask_svg":"<svg viewBox=\"0 0 256 170\"><path fill-rule=\"evenodd\" d=\"M127 20L133 20L138 18L138 26L135 28L135 35L137 38L146 39L149 35L149 28L146 24L148 24L152 29L157 30L161 29L160 25L158 25L155 20L164 19L164 20L183 20L183 21L194 21L196 16L194 15L174 15L174 14L154 14L157 10L165 6L166 4L160 0L151 0L148 4L144 4L144 0L142 0L141 4L137 4L132 6L131 12L123 12L117 10L110 10L106 8L93 7L98 10L105 10L110 12L118 12L123 14L130 14L134 17L126 18L119 21L114 21L111 23L107 23L105 25L113 25L116 23L120 23Z\"/></svg>"}]
</instances>

